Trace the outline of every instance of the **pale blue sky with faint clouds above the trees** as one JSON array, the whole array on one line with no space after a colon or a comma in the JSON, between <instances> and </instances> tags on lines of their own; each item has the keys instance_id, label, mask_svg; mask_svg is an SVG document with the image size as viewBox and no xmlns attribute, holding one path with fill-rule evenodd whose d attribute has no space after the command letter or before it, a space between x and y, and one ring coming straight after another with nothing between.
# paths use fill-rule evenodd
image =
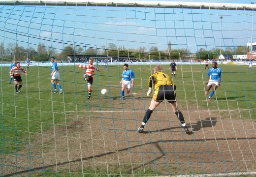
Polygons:
<instances>
[{"instance_id":1,"label":"pale blue sky with faint clouds above the trees","mask_svg":"<svg viewBox=\"0 0 256 177\"><path fill-rule=\"evenodd\" d=\"M86 50L102 49L113 43L126 49L144 47L149 51L153 46L166 50L171 42L172 49L194 53L200 48L225 50L256 41L252 31L256 29L253 11L0 5L0 12L0 41L5 46L18 41L25 48L37 49L37 44L42 42L57 50L66 45L78 45Z\"/></svg>"}]
</instances>

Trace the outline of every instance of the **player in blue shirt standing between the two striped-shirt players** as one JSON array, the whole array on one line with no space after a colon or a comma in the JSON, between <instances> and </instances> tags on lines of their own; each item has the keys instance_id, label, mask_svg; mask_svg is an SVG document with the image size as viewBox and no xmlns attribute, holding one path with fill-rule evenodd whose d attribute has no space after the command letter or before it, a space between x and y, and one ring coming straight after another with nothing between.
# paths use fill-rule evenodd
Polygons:
<instances>
[{"instance_id":1,"label":"player in blue shirt standing between the two striped-shirt players","mask_svg":"<svg viewBox=\"0 0 256 177\"><path fill-rule=\"evenodd\" d=\"M57 89L56 89L56 85L55 85L54 81L56 82L56 84L57 84L57 86L58 86L58 88L60 90L60 94L62 94L63 93L62 87L59 84L60 73L58 71L58 66L57 66L57 63L55 62L55 58L54 57L51 58L51 69L52 69L52 73L51 73L51 75L52 75L52 82L51 83L52 83L53 89L54 89L53 94L58 92Z\"/></svg>"}]
</instances>

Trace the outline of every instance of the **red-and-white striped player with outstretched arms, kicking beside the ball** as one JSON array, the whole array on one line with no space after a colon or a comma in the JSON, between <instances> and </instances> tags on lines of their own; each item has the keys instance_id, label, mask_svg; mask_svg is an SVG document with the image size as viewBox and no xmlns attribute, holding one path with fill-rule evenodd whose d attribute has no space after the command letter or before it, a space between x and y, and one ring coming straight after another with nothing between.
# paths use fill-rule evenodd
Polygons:
<instances>
[{"instance_id":1,"label":"red-and-white striped player with outstretched arms, kicking beside the ball","mask_svg":"<svg viewBox=\"0 0 256 177\"><path fill-rule=\"evenodd\" d=\"M86 73L84 74L84 80L87 82L88 86L88 99L91 98L92 95L92 85L93 85L93 77L94 77L94 71L100 71L100 69L96 68L93 65L94 59L89 59L89 64L88 65L82 65L78 64L77 66L80 68L86 69Z\"/></svg>"}]
</instances>

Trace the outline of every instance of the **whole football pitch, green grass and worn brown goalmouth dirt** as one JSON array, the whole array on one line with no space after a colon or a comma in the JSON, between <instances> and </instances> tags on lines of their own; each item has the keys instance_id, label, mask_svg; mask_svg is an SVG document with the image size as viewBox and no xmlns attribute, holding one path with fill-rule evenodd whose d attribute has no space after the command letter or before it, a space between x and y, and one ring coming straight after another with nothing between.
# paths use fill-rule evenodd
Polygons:
<instances>
[{"instance_id":1,"label":"whole football pitch, green grass and worn brown goalmouth dirt","mask_svg":"<svg viewBox=\"0 0 256 177\"><path fill-rule=\"evenodd\" d=\"M219 64L221 87L207 101L204 65L177 65L177 106L193 135L184 134L167 101L139 134L152 98L146 93L154 66L129 65L135 81L125 100L120 97L123 65L97 66L101 72L95 72L90 99L85 70L76 65L58 63L63 94L53 94L48 66L31 66L27 77L22 73L19 94L8 84L9 67L1 67L1 176L255 172L255 71ZM171 76L169 65L162 70Z\"/></svg>"}]
</instances>

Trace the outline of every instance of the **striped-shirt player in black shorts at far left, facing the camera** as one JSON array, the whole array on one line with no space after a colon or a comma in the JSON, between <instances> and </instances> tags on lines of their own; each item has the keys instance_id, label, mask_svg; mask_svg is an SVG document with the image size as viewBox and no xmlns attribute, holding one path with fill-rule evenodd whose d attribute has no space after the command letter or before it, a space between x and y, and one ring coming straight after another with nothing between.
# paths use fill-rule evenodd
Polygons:
<instances>
[{"instance_id":1,"label":"striped-shirt player in black shorts at far left, facing the camera","mask_svg":"<svg viewBox=\"0 0 256 177\"><path fill-rule=\"evenodd\" d=\"M13 68L11 68L10 70L10 76L11 78L13 78L14 84L15 84L15 90L16 93L20 93L20 89L23 85L22 83L22 79L21 79L21 72L24 72L25 76L27 76L27 72L26 70L20 66L20 62L17 62L16 66L14 66ZM19 82L19 88L18 88L18 82Z\"/></svg>"}]
</instances>

